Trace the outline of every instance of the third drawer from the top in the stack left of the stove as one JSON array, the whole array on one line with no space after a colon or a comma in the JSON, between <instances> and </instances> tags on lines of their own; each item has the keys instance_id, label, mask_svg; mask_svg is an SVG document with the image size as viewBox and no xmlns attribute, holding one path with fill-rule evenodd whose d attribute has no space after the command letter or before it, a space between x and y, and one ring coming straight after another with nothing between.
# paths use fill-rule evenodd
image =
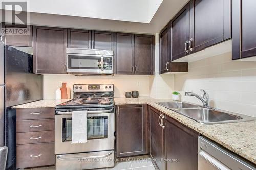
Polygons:
<instances>
[{"instance_id":1,"label":"third drawer from the top in the stack left of the stove","mask_svg":"<svg viewBox=\"0 0 256 170\"><path fill-rule=\"evenodd\" d=\"M54 142L54 131L17 133L17 144Z\"/></svg>"}]
</instances>

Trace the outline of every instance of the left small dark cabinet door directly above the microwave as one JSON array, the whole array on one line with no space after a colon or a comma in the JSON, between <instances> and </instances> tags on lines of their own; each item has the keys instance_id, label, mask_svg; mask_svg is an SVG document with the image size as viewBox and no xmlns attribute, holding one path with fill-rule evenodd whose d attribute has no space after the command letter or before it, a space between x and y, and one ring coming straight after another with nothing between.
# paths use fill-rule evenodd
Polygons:
<instances>
[{"instance_id":1,"label":"left small dark cabinet door directly above the microwave","mask_svg":"<svg viewBox=\"0 0 256 170\"><path fill-rule=\"evenodd\" d=\"M69 48L92 48L90 30L68 29Z\"/></svg>"}]
</instances>

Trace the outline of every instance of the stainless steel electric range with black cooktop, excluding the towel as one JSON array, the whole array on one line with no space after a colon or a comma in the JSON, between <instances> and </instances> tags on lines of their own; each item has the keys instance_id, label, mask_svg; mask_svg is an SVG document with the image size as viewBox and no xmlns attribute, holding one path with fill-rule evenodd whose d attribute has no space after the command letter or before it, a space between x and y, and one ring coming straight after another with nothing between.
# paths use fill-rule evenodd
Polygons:
<instances>
[{"instance_id":1,"label":"stainless steel electric range with black cooktop, excluding the towel","mask_svg":"<svg viewBox=\"0 0 256 170\"><path fill-rule=\"evenodd\" d=\"M75 84L74 99L56 106L56 169L114 166L114 86ZM87 142L71 144L72 111L87 110Z\"/></svg>"}]
</instances>

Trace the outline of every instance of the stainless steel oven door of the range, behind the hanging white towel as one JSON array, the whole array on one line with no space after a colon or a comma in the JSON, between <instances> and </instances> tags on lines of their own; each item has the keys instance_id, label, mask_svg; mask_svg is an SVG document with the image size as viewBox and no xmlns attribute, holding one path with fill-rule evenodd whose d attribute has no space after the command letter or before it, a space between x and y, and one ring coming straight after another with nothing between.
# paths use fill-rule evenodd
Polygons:
<instances>
[{"instance_id":1,"label":"stainless steel oven door of the range, behind the hanging white towel","mask_svg":"<svg viewBox=\"0 0 256 170\"><path fill-rule=\"evenodd\" d=\"M71 144L72 112L55 115L55 154L94 152L114 149L113 109L88 111L87 142Z\"/></svg>"}]
</instances>

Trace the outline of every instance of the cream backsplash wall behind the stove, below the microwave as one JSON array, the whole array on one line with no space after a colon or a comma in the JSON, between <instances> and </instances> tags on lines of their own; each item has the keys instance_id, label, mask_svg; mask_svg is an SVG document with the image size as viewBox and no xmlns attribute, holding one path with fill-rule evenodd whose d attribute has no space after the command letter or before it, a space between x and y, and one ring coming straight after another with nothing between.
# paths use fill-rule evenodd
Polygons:
<instances>
[{"instance_id":1,"label":"cream backsplash wall behind the stove, below the microwave","mask_svg":"<svg viewBox=\"0 0 256 170\"><path fill-rule=\"evenodd\" d=\"M67 87L75 83L113 83L115 97L124 97L125 91L138 90L140 96L149 96L149 76L115 75L115 76L74 76L68 74L46 74L43 76L44 99L54 99L55 90L61 82L67 82ZM73 96L73 94L71 94Z\"/></svg>"}]
</instances>

